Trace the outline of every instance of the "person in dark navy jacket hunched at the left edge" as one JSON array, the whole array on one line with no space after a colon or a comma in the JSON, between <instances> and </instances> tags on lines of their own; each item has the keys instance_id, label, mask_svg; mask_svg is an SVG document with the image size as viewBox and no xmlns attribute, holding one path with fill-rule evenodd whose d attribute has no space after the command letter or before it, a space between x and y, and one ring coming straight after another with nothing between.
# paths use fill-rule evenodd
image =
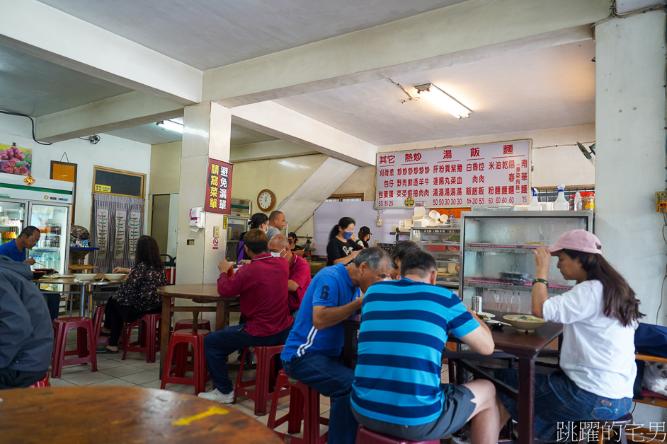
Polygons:
<instances>
[{"instance_id":1,"label":"person in dark navy jacket hunched at the left edge","mask_svg":"<svg viewBox=\"0 0 667 444\"><path fill-rule=\"evenodd\" d=\"M0 390L44 378L53 350L49 310L30 265L0 256Z\"/></svg>"}]
</instances>

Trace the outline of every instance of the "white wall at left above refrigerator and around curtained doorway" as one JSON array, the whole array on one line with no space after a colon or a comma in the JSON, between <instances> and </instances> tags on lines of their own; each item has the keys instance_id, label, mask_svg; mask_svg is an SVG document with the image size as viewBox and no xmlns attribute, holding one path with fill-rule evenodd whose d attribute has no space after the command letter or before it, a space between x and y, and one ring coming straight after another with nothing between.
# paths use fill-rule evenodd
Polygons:
<instances>
[{"instance_id":1,"label":"white wall at left above refrigerator and around curtained doorway","mask_svg":"<svg viewBox=\"0 0 667 444\"><path fill-rule=\"evenodd\" d=\"M62 158L64 162L76 163L74 223L88 229L91 226L93 165L145 174L144 191L148 195L151 146L106 134L100 136L101 140L96 145L81 139L40 145L33 141L30 120L27 117L0 114L0 144L11 145L16 142L17 146L33 150L32 175L37 180L37 185L40 177L50 177L51 160ZM67 153L67 158L63 158L64 153ZM144 233L149 230L147 215L148 208L144 205Z\"/></svg>"}]
</instances>

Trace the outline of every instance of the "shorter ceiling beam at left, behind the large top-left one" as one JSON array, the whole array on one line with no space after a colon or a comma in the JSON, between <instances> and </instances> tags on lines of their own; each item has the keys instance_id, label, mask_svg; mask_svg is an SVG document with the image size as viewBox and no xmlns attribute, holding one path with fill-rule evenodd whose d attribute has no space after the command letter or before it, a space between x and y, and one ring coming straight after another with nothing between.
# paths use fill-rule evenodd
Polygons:
<instances>
[{"instance_id":1,"label":"shorter ceiling beam at left, behind the large top-left one","mask_svg":"<svg viewBox=\"0 0 667 444\"><path fill-rule=\"evenodd\" d=\"M182 105L133 91L37 117L35 136L59 142L182 116Z\"/></svg>"}]
</instances>

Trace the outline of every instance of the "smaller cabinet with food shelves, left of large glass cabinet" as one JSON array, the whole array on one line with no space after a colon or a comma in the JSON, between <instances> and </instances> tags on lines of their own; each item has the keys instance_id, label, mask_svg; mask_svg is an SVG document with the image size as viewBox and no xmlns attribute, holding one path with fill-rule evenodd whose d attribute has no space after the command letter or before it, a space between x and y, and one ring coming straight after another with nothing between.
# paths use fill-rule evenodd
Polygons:
<instances>
[{"instance_id":1,"label":"smaller cabinet with food shelves, left of large glass cabinet","mask_svg":"<svg viewBox=\"0 0 667 444\"><path fill-rule=\"evenodd\" d=\"M410 240L435 258L438 278L435 284L455 291L460 286L460 226L411 228Z\"/></svg>"}]
</instances>

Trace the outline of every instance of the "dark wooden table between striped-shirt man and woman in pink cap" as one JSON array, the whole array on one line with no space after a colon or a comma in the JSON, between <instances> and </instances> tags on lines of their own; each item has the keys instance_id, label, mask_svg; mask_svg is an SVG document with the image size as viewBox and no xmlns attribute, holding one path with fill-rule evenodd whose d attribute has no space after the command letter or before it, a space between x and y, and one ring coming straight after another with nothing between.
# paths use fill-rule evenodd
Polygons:
<instances>
[{"instance_id":1,"label":"dark wooden table between striped-shirt man and woman in pink cap","mask_svg":"<svg viewBox=\"0 0 667 444\"><path fill-rule=\"evenodd\" d=\"M503 315L515 314L506 312L493 312L497 319ZM345 329L345 339L343 345L343 363L353 366L357 349L357 331L360 325L360 315L354 315L343 321ZM443 358L456 359L467 370L484 378L492 380L499 392L513 397L518 401L518 434L519 444L532 444L534 434L534 405L535 405L535 359L537 356L557 355L557 350L545 350L545 347L554 339L557 339L563 332L563 326L554 322L547 322L545 325L536 329L533 333L520 333L514 327L503 327L502 329L492 328L491 334L496 343L496 349L502 353L494 353L490 356L484 356L467 351L449 351L445 349ZM458 339L450 337L449 341ZM464 358L484 359L484 358L505 358L508 356L516 357L519 361L519 380L525 381L517 390L511 390L503 384L499 384L489 373L481 371L479 368L465 361Z\"/></svg>"}]
</instances>

